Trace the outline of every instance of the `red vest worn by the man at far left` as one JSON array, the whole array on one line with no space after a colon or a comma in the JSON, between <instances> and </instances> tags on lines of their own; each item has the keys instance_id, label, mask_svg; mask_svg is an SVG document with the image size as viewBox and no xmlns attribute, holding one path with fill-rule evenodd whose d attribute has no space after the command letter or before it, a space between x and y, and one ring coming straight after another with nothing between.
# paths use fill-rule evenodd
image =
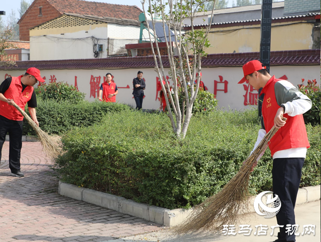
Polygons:
<instances>
[{"instance_id":1,"label":"red vest worn by the man at far left","mask_svg":"<svg viewBox=\"0 0 321 242\"><path fill-rule=\"evenodd\" d=\"M12 99L15 103L25 110L27 102L31 99L34 88L27 86L22 92L21 78L12 77L12 81L8 90L4 93L4 96L8 99ZM0 101L0 115L10 120L22 121L24 116L14 107L4 101Z\"/></svg>"}]
</instances>

